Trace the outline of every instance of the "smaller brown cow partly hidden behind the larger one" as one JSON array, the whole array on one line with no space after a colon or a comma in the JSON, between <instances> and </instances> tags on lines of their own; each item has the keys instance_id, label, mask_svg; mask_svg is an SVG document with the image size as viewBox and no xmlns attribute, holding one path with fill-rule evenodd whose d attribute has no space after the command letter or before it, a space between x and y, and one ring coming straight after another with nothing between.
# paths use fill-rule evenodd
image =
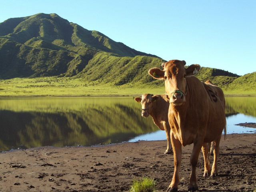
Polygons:
<instances>
[{"instance_id":1,"label":"smaller brown cow partly hidden behind the larger one","mask_svg":"<svg viewBox=\"0 0 256 192\"><path fill-rule=\"evenodd\" d=\"M138 103L141 102L141 116L148 117L150 115L153 118L154 124L156 124L160 130L165 130L167 149L164 154L170 154L172 152L170 138L171 128L168 122L169 101L166 95L143 94L141 98L136 97L135 100Z\"/></svg>"}]
</instances>

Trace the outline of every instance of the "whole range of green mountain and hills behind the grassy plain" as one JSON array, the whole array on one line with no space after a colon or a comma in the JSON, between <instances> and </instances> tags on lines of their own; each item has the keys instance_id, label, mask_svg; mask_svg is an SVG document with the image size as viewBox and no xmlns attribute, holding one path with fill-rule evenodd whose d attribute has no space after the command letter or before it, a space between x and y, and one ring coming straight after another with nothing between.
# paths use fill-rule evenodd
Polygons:
<instances>
[{"instance_id":1,"label":"whole range of green mountain and hills behind the grassy plain","mask_svg":"<svg viewBox=\"0 0 256 192\"><path fill-rule=\"evenodd\" d=\"M162 62L158 56L134 50L57 14L39 13L0 23L0 79L66 76L96 84L164 85L148 75L148 69ZM227 90L248 84L255 87L251 83L255 73L240 77L202 67L196 76Z\"/></svg>"}]
</instances>

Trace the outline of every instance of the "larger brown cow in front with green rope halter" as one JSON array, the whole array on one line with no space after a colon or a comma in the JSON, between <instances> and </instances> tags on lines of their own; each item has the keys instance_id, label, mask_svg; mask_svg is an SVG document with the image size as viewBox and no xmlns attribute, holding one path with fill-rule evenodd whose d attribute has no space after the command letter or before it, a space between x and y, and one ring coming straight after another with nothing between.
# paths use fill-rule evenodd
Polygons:
<instances>
[{"instance_id":1,"label":"larger brown cow in front with green rope halter","mask_svg":"<svg viewBox=\"0 0 256 192\"><path fill-rule=\"evenodd\" d=\"M200 149L204 155L206 176L210 174L207 143L214 142L211 175L217 175L217 157L223 129L226 136L225 98L222 90L193 76L200 70L200 65L192 64L185 68L185 64L185 61L170 60L162 63L164 70L152 68L148 71L152 77L165 80L165 91L170 101L168 119L172 130L174 175L167 191L178 190L182 146L194 143L190 156L192 168L188 190L197 190L196 164Z\"/></svg>"}]
</instances>

